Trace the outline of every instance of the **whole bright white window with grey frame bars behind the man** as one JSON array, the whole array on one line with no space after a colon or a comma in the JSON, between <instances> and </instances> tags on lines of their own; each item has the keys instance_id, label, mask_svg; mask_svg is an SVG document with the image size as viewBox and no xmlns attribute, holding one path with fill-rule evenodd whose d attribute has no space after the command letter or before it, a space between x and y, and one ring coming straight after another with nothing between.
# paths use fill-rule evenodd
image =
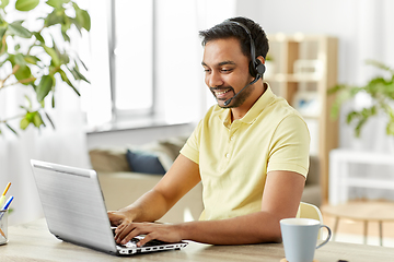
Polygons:
<instances>
[{"instance_id":1,"label":"whole bright white window with grey frame bars behind the man","mask_svg":"<svg viewBox=\"0 0 394 262\"><path fill-rule=\"evenodd\" d=\"M91 1L90 45L81 52L92 83L81 88L88 129L199 119L209 92L200 66L200 1Z\"/></svg>"}]
</instances>

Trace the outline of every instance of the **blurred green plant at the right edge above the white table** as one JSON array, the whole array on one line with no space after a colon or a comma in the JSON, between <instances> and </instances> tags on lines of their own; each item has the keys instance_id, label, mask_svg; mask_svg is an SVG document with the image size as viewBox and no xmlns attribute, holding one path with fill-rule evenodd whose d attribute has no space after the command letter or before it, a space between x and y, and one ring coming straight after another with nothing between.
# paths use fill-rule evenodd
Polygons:
<instances>
[{"instance_id":1,"label":"blurred green plant at the right edge above the white table","mask_svg":"<svg viewBox=\"0 0 394 262\"><path fill-rule=\"evenodd\" d=\"M355 135L358 138L368 119L379 112L384 112L389 117L386 133L394 135L394 108L392 107L394 103L394 70L375 60L367 60L366 63L385 71L390 74L389 78L373 78L364 86L338 84L329 88L328 94L338 93L331 114L334 118L337 118L343 103L354 98L358 93L367 93L373 98L372 105L360 110L351 110L347 114L346 122L348 124L356 123Z\"/></svg>"}]
</instances>

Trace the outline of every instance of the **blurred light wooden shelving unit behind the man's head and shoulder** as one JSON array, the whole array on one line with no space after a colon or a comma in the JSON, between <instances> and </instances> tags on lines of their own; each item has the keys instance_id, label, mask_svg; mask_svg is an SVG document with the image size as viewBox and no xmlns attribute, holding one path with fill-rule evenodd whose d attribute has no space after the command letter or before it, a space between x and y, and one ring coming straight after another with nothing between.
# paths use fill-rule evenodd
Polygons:
<instances>
[{"instance_id":1,"label":"blurred light wooden shelving unit behind the man's head and shoulder","mask_svg":"<svg viewBox=\"0 0 394 262\"><path fill-rule=\"evenodd\" d=\"M338 123L331 118L337 84L337 38L322 35L268 35L265 81L305 119L311 155L320 163L322 200L328 200L328 154L338 144ZM271 59L271 60L270 60Z\"/></svg>"}]
</instances>

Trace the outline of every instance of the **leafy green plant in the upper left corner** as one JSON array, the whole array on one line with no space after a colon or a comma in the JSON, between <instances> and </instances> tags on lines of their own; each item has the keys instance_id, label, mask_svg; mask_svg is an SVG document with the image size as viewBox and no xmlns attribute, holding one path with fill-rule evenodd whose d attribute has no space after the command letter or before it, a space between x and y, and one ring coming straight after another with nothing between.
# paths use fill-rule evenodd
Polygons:
<instances>
[{"instance_id":1,"label":"leafy green plant in the upper left corner","mask_svg":"<svg viewBox=\"0 0 394 262\"><path fill-rule=\"evenodd\" d=\"M0 116L0 133L1 128L8 128L18 134L10 123L15 119L20 119L22 130L30 124L39 129L46 127L45 122L55 128L44 99L51 94L55 108L56 82L67 83L78 95L76 82L89 83L80 66L88 69L71 49L69 33L73 27L81 35L83 29L89 32L90 15L71 0L16 0L14 7L10 5L9 0L0 0L0 95L4 88L23 85L34 91L26 90L34 99L24 94L26 99L20 105L20 115L3 119ZM45 10L48 12L43 13ZM26 19L13 21L20 12ZM34 25L30 23L33 14L40 14Z\"/></svg>"}]
</instances>

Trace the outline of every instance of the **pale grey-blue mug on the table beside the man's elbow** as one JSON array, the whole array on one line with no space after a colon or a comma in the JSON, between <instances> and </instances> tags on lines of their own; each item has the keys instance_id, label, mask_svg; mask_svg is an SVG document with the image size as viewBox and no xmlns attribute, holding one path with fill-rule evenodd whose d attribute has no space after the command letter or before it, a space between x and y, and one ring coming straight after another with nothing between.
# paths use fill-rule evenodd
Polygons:
<instances>
[{"instance_id":1,"label":"pale grey-blue mug on the table beside the man's elbow","mask_svg":"<svg viewBox=\"0 0 394 262\"><path fill-rule=\"evenodd\" d=\"M325 227L327 238L316 246L318 230ZM285 218L280 221L285 255L288 262L312 262L316 249L326 245L332 236L329 227L310 218Z\"/></svg>"}]
</instances>

